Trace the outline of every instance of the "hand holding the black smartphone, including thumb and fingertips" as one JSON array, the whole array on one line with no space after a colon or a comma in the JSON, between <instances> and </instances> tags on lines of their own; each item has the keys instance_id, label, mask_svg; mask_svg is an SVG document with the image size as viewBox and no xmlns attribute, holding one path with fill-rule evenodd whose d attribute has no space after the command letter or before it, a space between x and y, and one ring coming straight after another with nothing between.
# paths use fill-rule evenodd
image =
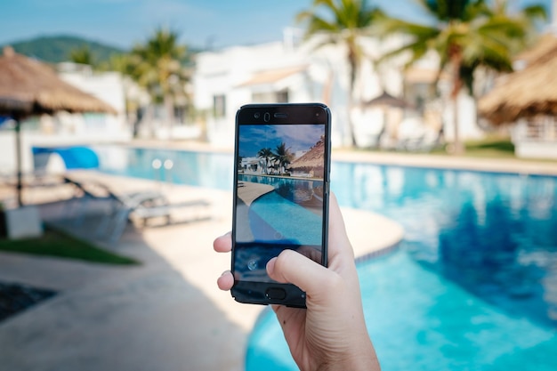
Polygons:
<instances>
[{"instance_id":1,"label":"hand holding the black smartphone, including thumb and fingertips","mask_svg":"<svg viewBox=\"0 0 557 371\"><path fill-rule=\"evenodd\" d=\"M214 240L214 250L231 250L230 233ZM302 254L285 250L267 264L270 278L292 283L306 293L307 310L273 305L285 338L302 370L379 370L367 334L354 254L343 216L331 195L329 206L328 268ZM217 285L230 290L229 271Z\"/></svg>"}]
</instances>

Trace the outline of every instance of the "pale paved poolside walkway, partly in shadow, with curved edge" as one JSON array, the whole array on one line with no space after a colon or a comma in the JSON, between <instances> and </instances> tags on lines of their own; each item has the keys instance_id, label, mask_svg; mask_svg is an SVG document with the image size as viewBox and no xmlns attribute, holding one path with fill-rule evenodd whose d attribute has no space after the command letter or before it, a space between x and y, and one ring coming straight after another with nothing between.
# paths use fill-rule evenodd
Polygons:
<instances>
[{"instance_id":1,"label":"pale paved poolside walkway, partly in shadow, with curved edge","mask_svg":"<svg viewBox=\"0 0 557 371\"><path fill-rule=\"evenodd\" d=\"M103 174L93 178L121 192L159 187ZM188 186L161 190L175 201L209 199L211 220L142 230L130 226L117 244L101 242L140 260L141 266L0 254L0 281L59 291L0 323L0 368L244 368L247 336L263 307L234 302L216 287L216 278L230 268L230 256L214 253L212 243L230 230L231 192ZM343 209L343 215L357 255L392 246L402 237L400 226L382 216L352 209Z\"/></svg>"}]
</instances>

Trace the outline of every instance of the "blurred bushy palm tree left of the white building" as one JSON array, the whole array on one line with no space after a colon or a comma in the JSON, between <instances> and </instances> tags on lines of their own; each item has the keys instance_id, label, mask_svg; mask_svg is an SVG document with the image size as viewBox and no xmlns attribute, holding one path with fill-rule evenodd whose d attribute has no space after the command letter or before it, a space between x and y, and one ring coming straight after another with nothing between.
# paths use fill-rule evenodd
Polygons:
<instances>
[{"instance_id":1,"label":"blurred bushy palm tree left of the white building","mask_svg":"<svg viewBox=\"0 0 557 371\"><path fill-rule=\"evenodd\" d=\"M179 35L157 28L146 44L132 50L133 77L145 87L154 101L164 101L169 124L174 123L174 98L184 93L187 75L182 68L186 47L178 44Z\"/></svg>"}]
</instances>

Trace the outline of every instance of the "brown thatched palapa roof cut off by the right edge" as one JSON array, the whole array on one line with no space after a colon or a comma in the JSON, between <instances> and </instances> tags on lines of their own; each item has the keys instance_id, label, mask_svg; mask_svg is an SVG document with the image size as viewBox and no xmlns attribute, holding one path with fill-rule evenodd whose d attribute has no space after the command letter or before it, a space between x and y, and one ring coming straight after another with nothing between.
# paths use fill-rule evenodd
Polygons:
<instances>
[{"instance_id":1,"label":"brown thatched palapa roof cut off by the right edge","mask_svg":"<svg viewBox=\"0 0 557 371\"><path fill-rule=\"evenodd\" d=\"M503 77L478 102L480 116L494 125L521 117L557 116L557 37L543 37L520 60L526 68Z\"/></svg>"}]
</instances>

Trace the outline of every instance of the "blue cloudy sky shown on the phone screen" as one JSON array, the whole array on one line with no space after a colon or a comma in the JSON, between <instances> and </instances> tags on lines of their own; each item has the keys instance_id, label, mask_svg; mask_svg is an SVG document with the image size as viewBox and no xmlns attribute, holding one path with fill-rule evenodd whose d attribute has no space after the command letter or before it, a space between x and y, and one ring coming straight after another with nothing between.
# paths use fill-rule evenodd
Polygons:
<instances>
[{"instance_id":1,"label":"blue cloudy sky shown on the phone screen","mask_svg":"<svg viewBox=\"0 0 557 371\"><path fill-rule=\"evenodd\" d=\"M260 149L273 152L284 142L290 152L309 150L325 134L325 125L240 125L239 155L257 157Z\"/></svg>"}]
</instances>

